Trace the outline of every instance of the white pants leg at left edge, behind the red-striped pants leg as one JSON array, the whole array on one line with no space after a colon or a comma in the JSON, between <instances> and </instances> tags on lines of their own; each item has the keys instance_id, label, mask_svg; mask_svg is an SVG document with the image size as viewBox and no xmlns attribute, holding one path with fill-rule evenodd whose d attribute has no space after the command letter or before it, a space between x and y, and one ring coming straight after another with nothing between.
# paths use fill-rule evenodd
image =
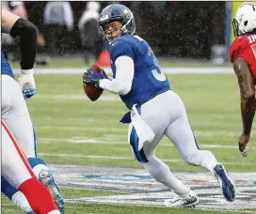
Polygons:
<instances>
[{"instance_id":1,"label":"white pants leg at left edge, behind the red-striped pants leg","mask_svg":"<svg viewBox=\"0 0 256 214\"><path fill-rule=\"evenodd\" d=\"M36 157L33 124L20 85L10 76L2 75L2 120L8 126L26 158Z\"/></svg>"}]
</instances>

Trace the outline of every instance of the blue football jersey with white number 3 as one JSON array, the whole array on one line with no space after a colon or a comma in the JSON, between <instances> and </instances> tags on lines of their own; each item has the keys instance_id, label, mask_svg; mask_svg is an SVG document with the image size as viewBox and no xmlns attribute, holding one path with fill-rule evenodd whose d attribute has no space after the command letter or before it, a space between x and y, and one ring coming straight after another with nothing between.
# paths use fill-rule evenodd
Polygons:
<instances>
[{"instance_id":1,"label":"blue football jersey with white number 3","mask_svg":"<svg viewBox=\"0 0 256 214\"><path fill-rule=\"evenodd\" d=\"M158 94L169 90L168 78L158 65L150 45L138 36L127 34L115 38L109 44L111 69L116 76L115 61L121 55L130 56L135 63L135 75L131 91L120 99L132 109L134 104L142 105Z\"/></svg>"}]
</instances>

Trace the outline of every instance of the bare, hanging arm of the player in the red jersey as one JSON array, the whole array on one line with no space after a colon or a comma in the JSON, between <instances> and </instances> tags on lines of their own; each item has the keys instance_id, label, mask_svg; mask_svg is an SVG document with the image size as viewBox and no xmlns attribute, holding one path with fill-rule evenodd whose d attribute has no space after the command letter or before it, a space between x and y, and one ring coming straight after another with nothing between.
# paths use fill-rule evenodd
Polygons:
<instances>
[{"instance_id":1,"label":"bare, hanging arm of the player in the red jersey","mask_svg":"<svg viewBox=\"0 0 256 214\"><path fill-rule=\"evenodd\" d=\"M239 149L243 152L249 141L252 121L256 110L255 83L249 71L248 63L244 58L236 58L233 61L233 69L237 76L241 94L243 132L239 138Z\"/></svg>"}]
</instances>

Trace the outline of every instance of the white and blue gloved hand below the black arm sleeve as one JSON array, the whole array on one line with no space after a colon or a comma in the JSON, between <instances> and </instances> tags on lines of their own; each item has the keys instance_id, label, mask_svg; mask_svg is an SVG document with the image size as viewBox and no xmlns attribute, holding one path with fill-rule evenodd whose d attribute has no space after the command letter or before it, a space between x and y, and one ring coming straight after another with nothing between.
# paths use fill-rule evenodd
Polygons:
<instances>
[{"instance_id":1,"label":"white and blue gloved hand below the black arm sleeve","mask_svg":"<svg viewBox=\"0 0 256 214\"><path fill-rule=\"evenodd\" d=\"M30 99L37 93L33 69L22 69L17 82L22 88L24 99Z\"/></svg>"}]
</instances>

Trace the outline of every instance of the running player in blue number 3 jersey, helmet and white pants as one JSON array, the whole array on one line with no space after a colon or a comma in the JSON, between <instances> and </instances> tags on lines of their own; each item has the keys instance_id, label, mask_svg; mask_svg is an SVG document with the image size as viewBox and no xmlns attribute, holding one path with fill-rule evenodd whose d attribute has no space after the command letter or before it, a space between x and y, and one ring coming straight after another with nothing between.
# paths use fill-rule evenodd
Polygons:
<instances>
[{"instance_id":1,"label":"running player in blue number 3 jersey, helmet and white pants","mask_svg":"<svg viewBox=\"0 0 256 214\"><path fill-rule=\"evenodd\" d=\"M235 198L234 185L223 164L210 151L200 150L187 119L182 99L170 90L150 45L136 35L136 22L129 8L113 4L103 9L100 28L109 42L113 79L88 69L84 84L95 84L114 94L131 110L121 122L129 124L129 143L150 175L177 193L165 201L167 206L196 206L195 192L186 187L155 156L164 135L177 147L184 161L208 169L219 181L227 201Z\"/></svg>"}]
</instances>

